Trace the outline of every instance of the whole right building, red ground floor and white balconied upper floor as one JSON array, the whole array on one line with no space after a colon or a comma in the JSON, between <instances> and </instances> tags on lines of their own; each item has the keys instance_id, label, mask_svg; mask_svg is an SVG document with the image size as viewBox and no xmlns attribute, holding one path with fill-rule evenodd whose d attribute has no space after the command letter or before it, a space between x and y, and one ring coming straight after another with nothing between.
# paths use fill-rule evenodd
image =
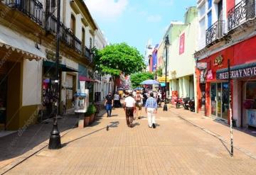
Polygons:
<instances>
[{"instance_id":1,"label":"whole right building, red ground floor and white balconied upper floor","mask_svg":"<svg viewBox=\"0 0 256 175\"><path fill-rule=\"evenodd\" d=\"M231 96L233 123L256 127L255 0L198 1L198 16L206 31L195 53L198 110L230 123Z\"/></svg>"}]
</instances>

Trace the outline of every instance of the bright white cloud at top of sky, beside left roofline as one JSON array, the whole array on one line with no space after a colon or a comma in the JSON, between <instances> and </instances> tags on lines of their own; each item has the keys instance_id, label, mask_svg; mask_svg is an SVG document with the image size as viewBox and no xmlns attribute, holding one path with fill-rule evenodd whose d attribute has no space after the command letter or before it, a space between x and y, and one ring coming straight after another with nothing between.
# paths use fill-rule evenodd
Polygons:
<instances>
[{"instance_id":1,"label":"bright white cloud at top of sky, beside left roofline","mask_svg":"<svg viewBox=\"0 0 256 175\"><path fill-rule=\"evenodd\" d=\"M127 9L128 0L84 0L93 16L114 20Z\"/></svg>"}]
</instances>

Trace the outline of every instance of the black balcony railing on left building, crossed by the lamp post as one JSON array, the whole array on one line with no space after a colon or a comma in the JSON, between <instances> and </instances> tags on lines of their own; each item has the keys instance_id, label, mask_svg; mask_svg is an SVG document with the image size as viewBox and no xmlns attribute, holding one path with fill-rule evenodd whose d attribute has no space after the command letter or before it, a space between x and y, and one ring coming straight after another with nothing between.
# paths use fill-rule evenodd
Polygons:
<instances>
[{"instance_id":1,"label":"black balcony railing on left building, crossed by the lamp post","mask_svg":"<svg viewBox=\"0 0 256 175\"><path fill-rule=\"evenodd\" d=\"M47 30L53 33L57 32L57 18L50 15L47 22ZM75 49L75 51L82 53L82 42L73 34L73 32L67 28L63 23L60 22L60 40Z\"/></svg>"}]
</instances>

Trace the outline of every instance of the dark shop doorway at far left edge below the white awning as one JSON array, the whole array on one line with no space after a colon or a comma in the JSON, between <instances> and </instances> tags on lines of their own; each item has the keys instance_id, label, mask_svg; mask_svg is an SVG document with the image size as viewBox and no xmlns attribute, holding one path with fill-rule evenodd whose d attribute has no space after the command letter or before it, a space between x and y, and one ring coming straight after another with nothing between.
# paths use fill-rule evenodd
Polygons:
<instances>
[{"instance_id":1,"label":"dark shop doorway at far left edge below the white awning","mask_svg":"<svg viewBox=\"0 0 256 175\"><path fill-rule=\"evenodd\" d=\"M6 129L7 76L0 74L0 130Z\"/></svg>"}]
</instances>

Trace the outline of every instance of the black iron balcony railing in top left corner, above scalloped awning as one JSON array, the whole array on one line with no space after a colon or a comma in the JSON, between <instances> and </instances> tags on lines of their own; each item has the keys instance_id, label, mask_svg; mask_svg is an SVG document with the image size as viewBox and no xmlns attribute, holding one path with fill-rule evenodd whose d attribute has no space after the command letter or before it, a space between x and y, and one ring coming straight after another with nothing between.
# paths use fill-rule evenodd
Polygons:
<instances>
[{"instance_id":1,"label":"black iron balcony railing in top left corner, above scalloped awning","mask_svg":"<svg viewBox=\"0 0 256 175\"><path fill-rule=\"evenodd\" d=\"M38 0L5 0L7 6L18 9L33 21L43 26L43 4Z\"/></svg>"}]
</instances>

